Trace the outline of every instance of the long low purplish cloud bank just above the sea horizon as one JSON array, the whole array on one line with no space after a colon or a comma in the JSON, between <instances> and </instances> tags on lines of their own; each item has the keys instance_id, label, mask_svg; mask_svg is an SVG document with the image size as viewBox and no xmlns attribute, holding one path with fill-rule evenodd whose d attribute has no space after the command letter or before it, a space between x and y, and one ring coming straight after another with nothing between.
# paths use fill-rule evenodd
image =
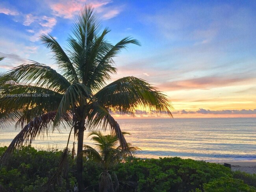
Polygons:
<instances>
[{"instance_id":1,"label":"long low purplish cloud bank just above the sea horizon","mask_svg":"<svg viewBox=\"0 0 256 192\"><path fill-rule=\"evenodd\" d=\"M220 110L220 111L211 111L206 109L198 109L198 111L174 111L173 114L256 114L256 109L242 109L242 110Z\"/></svg>"}]
</instances>

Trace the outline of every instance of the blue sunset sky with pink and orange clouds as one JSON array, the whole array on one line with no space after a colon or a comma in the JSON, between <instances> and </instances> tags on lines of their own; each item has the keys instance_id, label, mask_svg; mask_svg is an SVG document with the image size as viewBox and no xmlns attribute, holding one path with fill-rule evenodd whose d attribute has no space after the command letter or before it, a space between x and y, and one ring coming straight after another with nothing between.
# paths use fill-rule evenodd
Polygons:
<instances>
[{"instance_id":1,"label":"blue sunset sky with pink and orange clouds","mask_svg":"<svg viewBox=\"0 0 256 192\"><path fill-rule=\"evenodd\" d=\"M67 47L88 3L111 29L111 43L126 36L141 43L114 58L112 80L145 79L165 92L174 118L256 117L255 0L1 0L0 72L28 59L56 68L39 36L50 33Z\"/></svg>"}]
</instances>

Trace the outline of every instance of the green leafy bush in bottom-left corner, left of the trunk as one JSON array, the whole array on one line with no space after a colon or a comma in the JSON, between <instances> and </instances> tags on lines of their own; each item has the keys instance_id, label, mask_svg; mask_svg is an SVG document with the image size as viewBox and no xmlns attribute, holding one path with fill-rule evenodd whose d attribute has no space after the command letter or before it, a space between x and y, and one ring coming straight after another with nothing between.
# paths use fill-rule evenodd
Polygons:
<instances>
[{"instance_id":1,"label":"green leafy bush in bottom-left corner, left of the trunk","mask_svg":"<svg viewBox=\"0 0 256 192\"><path fill-rule=\"evenodd\" d=\"M0 148L0 157L6 147ZM55 173L61 151L37 151L31 146L15 150L7 167L0 169L0 185L7 191L43 191L42 186ZM63 183L65 183L63 179ZM53 190L58 191L58 186Z\"/></svg>"}]
</instances>

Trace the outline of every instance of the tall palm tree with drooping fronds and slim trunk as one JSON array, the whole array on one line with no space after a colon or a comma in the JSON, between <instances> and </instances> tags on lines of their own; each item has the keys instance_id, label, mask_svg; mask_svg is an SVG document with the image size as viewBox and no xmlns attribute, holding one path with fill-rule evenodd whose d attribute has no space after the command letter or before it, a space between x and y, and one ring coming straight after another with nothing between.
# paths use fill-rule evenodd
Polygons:
<instances>
[{"instance_id":1,"label":"tall palm tree with drooping fronds and slim trunk","mask_svg":"<svg viewBox=\"0 0 256 192\"><path fill-rule=\"evenodd\" d=\"M71 127L77 137L77 181L84 191L82 180L83 135L85 129L101 127L115 132L122 148L126 140L119 124L111 115L135 114L137 107L171 115L171 104L166 96L143 79L133 76L118 79L109 85L115 57L128 44L139 42L125 37L113 45L106 40L109 29L101 30L101 23L91 6L81 9L63 49L50 35L41 41L51 50L59 67L58 72L32 61L11 69L0 76L0 127L16 123L20 133L1 157L7 162L11 151L41 135L48 135L61 125ZM104 87L105 86L105 87ZM70 135L69 135L70 138ZM67 145L68 146L68 145ZM63 157L67 157L66 148ZM66 155L65 155L66 154ZM61 165L63 165L61 161Z\"/></svg>"}]
</instances>

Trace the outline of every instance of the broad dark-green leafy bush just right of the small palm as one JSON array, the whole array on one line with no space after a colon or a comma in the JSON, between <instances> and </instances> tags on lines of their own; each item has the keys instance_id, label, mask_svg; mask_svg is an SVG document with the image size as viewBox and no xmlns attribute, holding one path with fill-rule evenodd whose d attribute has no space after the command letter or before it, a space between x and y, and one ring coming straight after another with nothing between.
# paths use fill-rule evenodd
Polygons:
<instances>
[{"instance_id":1,"label":"broad dark-green leafy bush just right of the small palm","mask_svg":"<svg viewBox=\"0 0 256 192\"><path fill-rule=\"evenodd\" d=\"M121 181L137 183L137 191L177 191L185 192L202 189L211 179L231 175L232 172L219 164L192 159L160 158L133 159L118 164L114 170ZM123 185L123 191L133 191Z\"/></svg>"}]
</instances>

